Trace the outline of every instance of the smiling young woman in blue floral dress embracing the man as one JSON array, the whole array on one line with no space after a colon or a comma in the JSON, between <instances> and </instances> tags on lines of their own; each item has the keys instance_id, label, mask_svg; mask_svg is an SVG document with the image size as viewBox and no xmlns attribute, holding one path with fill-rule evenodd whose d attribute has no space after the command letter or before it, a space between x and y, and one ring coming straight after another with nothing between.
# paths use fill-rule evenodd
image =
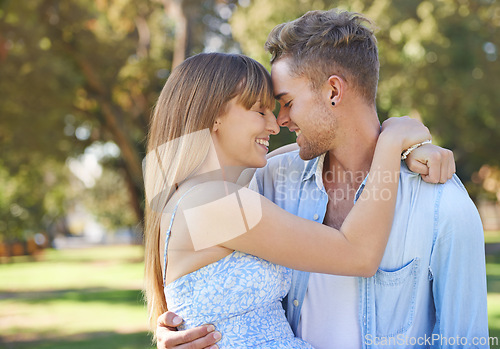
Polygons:
<instances>
[{"instance_id":1,"label":"smiling young woman in blue floral dress embracing the man","mask_svg":"<svg viewBox=\"0 0 500 349\"><path fill-rule=\"evenodd\" d=\"M266 164L269 136L279 132L274 105L268 72L241 55L191 57L165 84L145 160L145 279L153 328L168 306L182 316L183 328L214 324L220 348L310 348L293 336L281 307L288 268L357 276L377 270L401 153L429 139L428 130L410 119L384 123L373 179L336 230L239 185L245 169ZM375 189L385 199L370 195Z\"/></svg>"}]
</instances>

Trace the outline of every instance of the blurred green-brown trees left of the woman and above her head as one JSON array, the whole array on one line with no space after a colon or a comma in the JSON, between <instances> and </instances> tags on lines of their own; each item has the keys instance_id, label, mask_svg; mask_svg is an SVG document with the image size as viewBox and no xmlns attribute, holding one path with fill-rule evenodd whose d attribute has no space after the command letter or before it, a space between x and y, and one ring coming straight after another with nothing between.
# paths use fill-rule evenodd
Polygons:
<instances>
[{"instance_id":1,"label":"blurred green-brown trees left of the woman and above her head","mask_svg":"<svg viewBox=\"0 0 500 349\"><path fill-rule=\"evenodd\" d=\"M44 195L52 192L42 194L38 178L47 171L65 173L58 184L70 188L71 175L62 169L66 159L109 141L120 154L107 161L105 178L96 187L113 189L99 193L95 188L87 195L94 203L107 202L106 212L114 217L107 221L118 224L120 209L111 211L123 207L116 201L124 197L112 192L125 190L135 220L142 220L141 159L154 102L172 61L204 50L206 35L221 34L220 12L229 5L215 0L0 0L0 181L19 194L2 196L4 228L5 222L11 230L31 226L10 208L46 213ZM225 42L229 48L230 35Z\"/></svg>"}]
</instances>

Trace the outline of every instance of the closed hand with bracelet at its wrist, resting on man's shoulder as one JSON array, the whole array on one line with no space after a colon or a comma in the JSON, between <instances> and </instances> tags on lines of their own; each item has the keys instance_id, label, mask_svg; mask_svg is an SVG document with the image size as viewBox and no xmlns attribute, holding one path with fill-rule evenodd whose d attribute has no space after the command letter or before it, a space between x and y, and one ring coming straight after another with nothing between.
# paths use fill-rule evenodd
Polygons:
<instances>
[{"instance_id":1,"label":"closed hand with bracelet at its wrist, resting on man's shoulder","mask_svg":"<svg viewBox=\"0 0 500 349\"><path fill-rule=\"evenodd\" d=\"M420 173L427 183L445 183L455 173L453 152L432 144L418 147L405 162L410 171Z\"/></svg>"}]
</instances>

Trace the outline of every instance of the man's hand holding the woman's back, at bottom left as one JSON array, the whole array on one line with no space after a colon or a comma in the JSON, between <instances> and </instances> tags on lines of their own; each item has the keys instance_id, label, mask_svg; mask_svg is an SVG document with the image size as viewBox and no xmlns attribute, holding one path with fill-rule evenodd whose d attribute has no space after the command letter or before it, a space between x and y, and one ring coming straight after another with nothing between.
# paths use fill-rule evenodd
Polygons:
<instances>
[{"instance_id":1,"label":"man's hand holding the woman's back, at bottom left","mask_svg":"<svg viewBox=\"0 0 500 349\"><path fill-rule=\"evenodd\" d=\"M156 325L156 346L158 349L216 349L221 334L213 325L204 325L185 331L177 331L182 323L180 316L171 311L161 314Z\"/></svg>"}]
</instances>

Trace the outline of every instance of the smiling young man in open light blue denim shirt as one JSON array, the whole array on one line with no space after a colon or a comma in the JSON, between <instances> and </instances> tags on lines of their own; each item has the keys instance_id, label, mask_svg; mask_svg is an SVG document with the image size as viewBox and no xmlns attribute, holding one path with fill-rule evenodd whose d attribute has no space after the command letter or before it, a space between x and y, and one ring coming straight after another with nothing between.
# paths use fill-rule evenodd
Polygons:
<instances>
[{"instance_id":1,"label":"smiling young man in open light blue denim shirt","mask_svg":"<svg viewBox=\"0 0 500 349\"><path fill-rule=\"evenodd\" d=\"M300 150L270 159L252 186L287 211L335 228L363 190L380 132L378 52L365 22L349 12L313 11L274 28L266 43L278 123L297 133ZM425 160L447 156L431 154ZM448 164L427 179L444 182ZM402 163L375 276L295 271L284 306L295 334L316 348L488 347L483 230L463 185L457 177L425 183ZM160 322L173 326L173 316ZM159 348L216 340L207 335L211 327L159 329Z\"/></svg>"}]
</instances>

